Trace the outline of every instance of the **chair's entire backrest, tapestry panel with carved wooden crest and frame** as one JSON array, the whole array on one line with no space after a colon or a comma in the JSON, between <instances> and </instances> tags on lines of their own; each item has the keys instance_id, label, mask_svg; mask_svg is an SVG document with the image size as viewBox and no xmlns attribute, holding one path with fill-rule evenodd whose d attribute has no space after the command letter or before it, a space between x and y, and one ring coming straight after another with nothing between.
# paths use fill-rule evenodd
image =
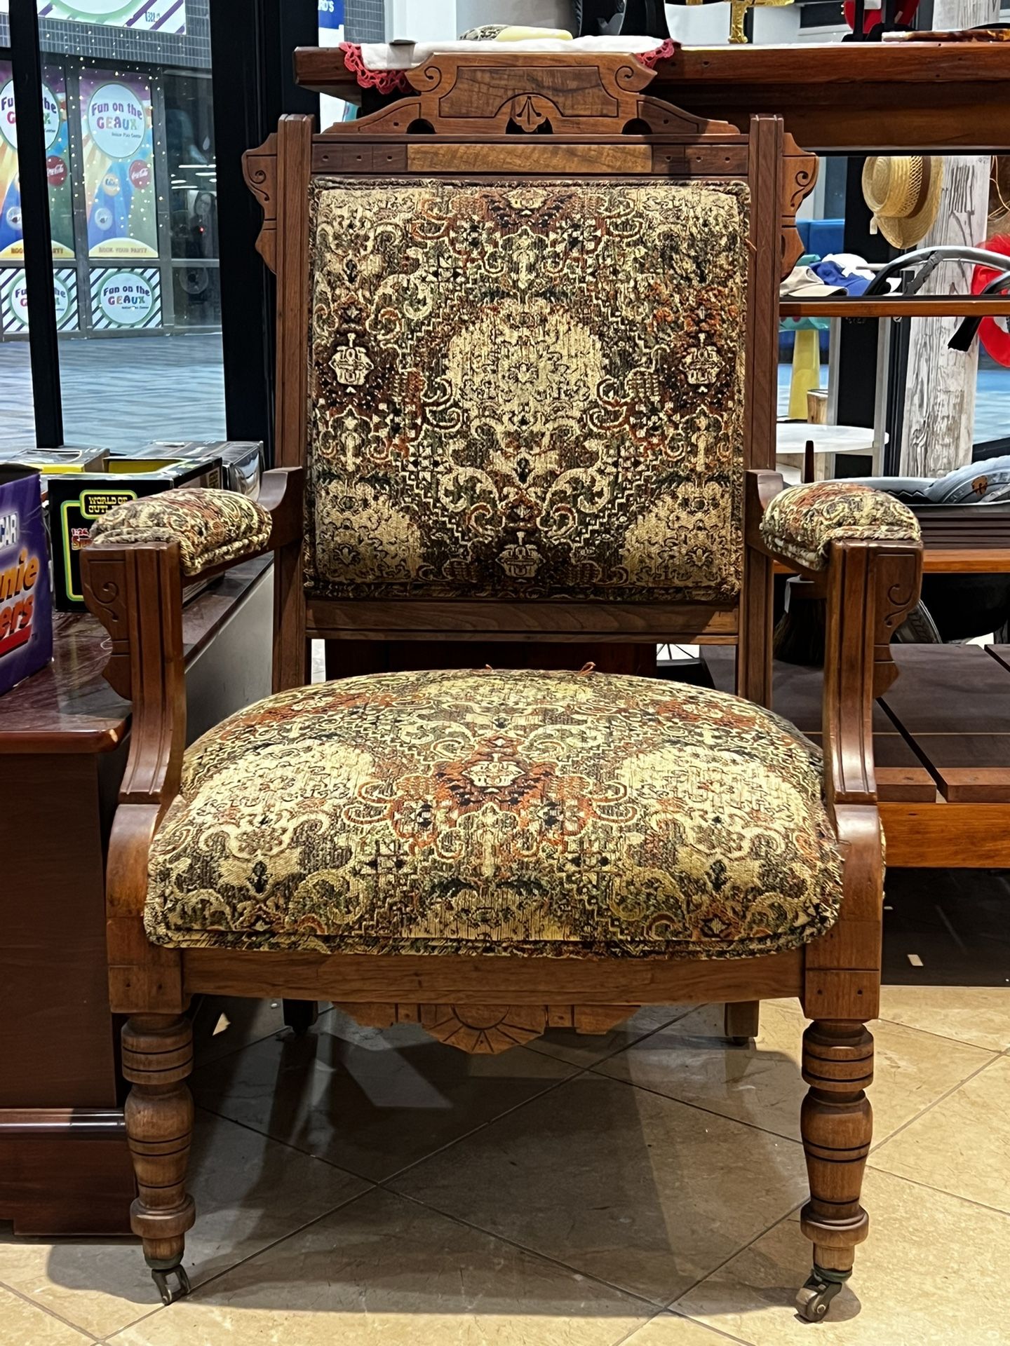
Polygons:
<instances>
[{"instance_id":1,"label":"chair's entire backrest, tapestry panel with carved wooden crest and frame","mask_svg":"<svg viewBox=\"0 0 1010 1346\"><path fill-rule=\"evenodd\" d=\"M749 351L760 332L774 358L805 191L782 197L781 125L765 118L762 167L753 135L642 96L628 57L447 55L409 78L416 98L304 151L292 129L287 160L281 124L246 156L288 343L279 460L307 470L310 611L733 608L743 472L773 462L768 378L753 451Z\"/></svg>"}]
</instances>

